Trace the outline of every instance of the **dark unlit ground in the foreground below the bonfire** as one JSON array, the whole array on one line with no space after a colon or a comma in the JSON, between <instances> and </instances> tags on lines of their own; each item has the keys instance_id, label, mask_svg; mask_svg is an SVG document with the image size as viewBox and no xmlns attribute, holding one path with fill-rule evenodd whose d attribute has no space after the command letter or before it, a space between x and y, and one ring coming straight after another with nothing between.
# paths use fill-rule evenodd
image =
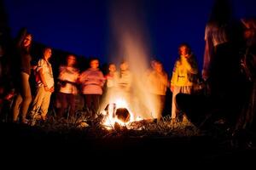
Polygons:
<instances>
[{"instance_id":1,"label":"dark unlit ground in the foreground below the bonfire","mask_svg":"<svg viewBox=\"0 0 256 170\"><path fill-rule=\"evenodd\" d=\"M149 124L140 130L115 127L109 131L96 127L96 124L95 127L68 126L52 130L47 126L2 122L1 155L5 158L15 155L20 159L26 153L30 159L42 159L42 156L51 161L61 158L63 161L81 160L89 164L94 160L119 161L124 165L128 160L147 160L148 163L185 163L183 166L190 165L186 162L250 165L256 156L256 148L234 147L230 138L218 130L198 132L195 127L187 126L183 129L177 127L177 132L183 134L175 133L173 127L173 133L166 129L157 129L161 133L156 133L150 128L161 125L156 122Z\"/></svg>"}]
</instances>

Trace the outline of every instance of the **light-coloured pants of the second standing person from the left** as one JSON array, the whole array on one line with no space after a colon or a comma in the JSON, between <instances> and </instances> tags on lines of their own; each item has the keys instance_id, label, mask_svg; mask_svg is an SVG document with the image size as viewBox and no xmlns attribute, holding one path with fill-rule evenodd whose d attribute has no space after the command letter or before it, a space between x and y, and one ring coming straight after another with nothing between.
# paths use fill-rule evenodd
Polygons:
<instances>
[{"instance_id":1,"label":"light-coloured pants of the second standing person from the left","mask_svg":"<svg viewBox=\"0 0 256 170\"><path fill-rule=\"evenodd\" d=\"M45 117L49 108L51 93L49 91L45 91L44 86L38 87L37 94L32 103L32 117L37 116L40 111L41 116Z\"/></svg>"}]
</instances>

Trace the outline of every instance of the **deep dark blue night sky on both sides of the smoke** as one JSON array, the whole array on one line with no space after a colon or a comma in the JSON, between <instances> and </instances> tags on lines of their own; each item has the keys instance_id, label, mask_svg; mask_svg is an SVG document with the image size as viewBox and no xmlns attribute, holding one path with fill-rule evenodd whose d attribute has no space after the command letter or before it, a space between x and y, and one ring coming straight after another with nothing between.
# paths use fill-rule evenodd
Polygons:
<instances>
[{"instance_id":1,"label":"deep dark blue night sky on both sides of the smoke","mask_svg":"<svg viewBox=\"0 0 256 170\"><path fill-rule=\"evenodd\" d=\"M96 56L102 62L108 62L111 55L111 2L4 0L13 36L26 26L37 42L85 57ZM232 2L236 18L256 16L254 0ZM204 30L212 3L213 0L144 0L138 8L144 15L148 48L164 62L169 75L181 42L190 44L201 67Z\"/></svg>"}]
</instances>

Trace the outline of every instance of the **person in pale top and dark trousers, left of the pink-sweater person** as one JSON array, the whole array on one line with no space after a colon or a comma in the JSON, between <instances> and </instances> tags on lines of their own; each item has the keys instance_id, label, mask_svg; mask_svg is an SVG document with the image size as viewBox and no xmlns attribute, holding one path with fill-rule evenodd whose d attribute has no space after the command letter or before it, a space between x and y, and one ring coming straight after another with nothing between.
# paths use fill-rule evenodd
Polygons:
<instances>
[{"instance_id":1,"label":"person in pale top and dark trousers, left of the pink-sweater person","mask_svg":"<svg viewBox=\"0 0 256 170\"><path fill-rule=\"evenodd\" d=\"M75 97L78 94L77 83L79 80L79 69L75 67L77 62L73 54L67 55L67 65L59 68L60 90L57 94L57 116L64 116L64 112L69 108L69 117L75 114Z\"/></svg>"}]
</instances>

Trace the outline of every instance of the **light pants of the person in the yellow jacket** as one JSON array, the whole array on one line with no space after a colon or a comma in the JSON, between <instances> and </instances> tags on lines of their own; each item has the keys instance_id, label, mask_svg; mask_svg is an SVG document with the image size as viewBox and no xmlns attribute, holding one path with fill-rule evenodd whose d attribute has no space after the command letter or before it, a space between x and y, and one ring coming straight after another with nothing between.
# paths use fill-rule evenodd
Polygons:
<instances>
[{"instance_id":1,"label":"light pants of the person in the yellow jacket","mask_svg":"<svg viewBox=\"0 0 256 170\"><path fill-rule=\"evenodd\" d=\"M177 94L191 94L192 86L174 86L172 92L172 119L177 118L180 110L177 107L176 95Z\"/></svg>"}]
</instances>

